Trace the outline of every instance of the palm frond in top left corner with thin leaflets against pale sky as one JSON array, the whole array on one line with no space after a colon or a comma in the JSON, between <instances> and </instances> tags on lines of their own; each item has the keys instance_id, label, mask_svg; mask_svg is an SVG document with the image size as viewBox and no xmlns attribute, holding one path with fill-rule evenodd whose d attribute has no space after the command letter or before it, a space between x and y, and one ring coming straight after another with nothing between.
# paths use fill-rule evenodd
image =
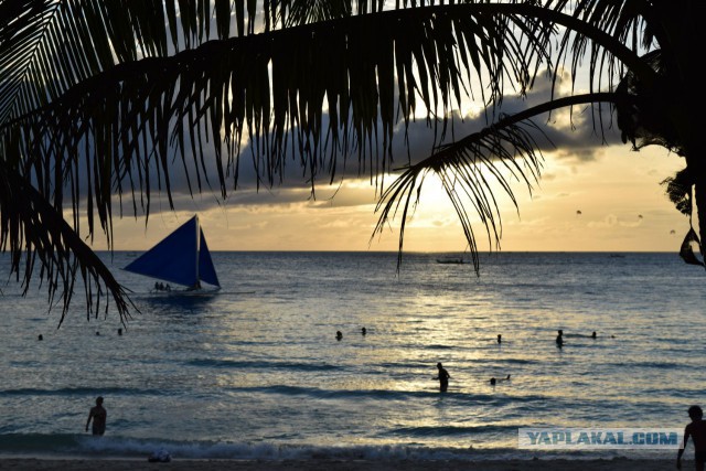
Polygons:
<instances>
[{"instance_id":1,"label":"palm frond in top left corner with thin leaflets against pale sky","mask_svg":"<svg viewBox=\"0 0 706 471\"><path fill-rule=\"evenodd\" d=\"M116 64L228 38L231 1L146 0L128 8L117 1L2 0L0 122L46 106ZM249 3L247 11L236 9L236 23L255 23Z\"/></svg>"}]
</instances>

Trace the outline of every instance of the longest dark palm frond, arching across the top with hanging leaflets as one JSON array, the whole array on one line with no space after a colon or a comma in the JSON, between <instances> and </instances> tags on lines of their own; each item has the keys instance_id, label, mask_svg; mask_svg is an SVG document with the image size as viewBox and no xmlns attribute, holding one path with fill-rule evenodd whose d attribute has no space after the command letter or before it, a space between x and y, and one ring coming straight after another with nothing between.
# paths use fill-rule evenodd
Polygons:
<instances>
[{"instance_id":1,"label":"longest dark palm frond, arching across the top with hanging leaflets","mask_svg":"<svg viewBox=\"0 0 706 471\"><path fill-rule=\"evenodd\" d=\"M96 194L105 195L105 201L106 182L117 184L121 192L125 175L137 172L138 181L145 181L140 172L150 164L159 167L169 193L168 156L173 152L184 160L190 150L184 142L197 142L200 129L213 139L216 164L222 141L239 142L249 133L256 167L264 169L263 176L270 184L281 175L288 151L285 136L291 133L301 151L299 163L313 180L324 167L324 135L344 157L346 149L357 149L361 167L366 168L366 160L373 158L366 154L366 142L376 142L379 120L382 148L389 148L396 125L395 84L405 119L416 108L417 94L430 117L439 111L446 116L470 88L461 74L469 64L479 67L475 78L481 84L484 73L491 77L490 100L502 95L506 73L526 76L531 69L524 62L526 49L505 20L494 14L473 18L415 9L378 15L379 24L375 19L350 18L266 36L211 41L171 57L122 63L82 81L39 113L0 127L0 137L8 139L22 129L20 153L36 156L36 165L63 161L65 179L74 174L68 169L76 168L85 147L83 158L89 168L118 175L93 180ZM384 28L391 24L393 28ZM463 43L464 55L456 47L458 43ZM483 53L479 54L477 44L481 43ZM503 65L507 57L518 64L512 71ZM391 67L393 61L396 71ZM325 126L324 97L332 116L325 132L321 129ZM145 139L151 149L137 144ZM196 162L204 162L201 149L193 146L191 150L199 156ZM225 157L231 167L238 154L226 146ZM375 172L389 168L387 152L374 159L370 168ZM35 178L45 184L47 174L36 165ZM225 181L218 183L225 194ZM72 185L79 186L78 182ZM197 186L201 189L201 182Z\"/></svg>"}]
</instances>

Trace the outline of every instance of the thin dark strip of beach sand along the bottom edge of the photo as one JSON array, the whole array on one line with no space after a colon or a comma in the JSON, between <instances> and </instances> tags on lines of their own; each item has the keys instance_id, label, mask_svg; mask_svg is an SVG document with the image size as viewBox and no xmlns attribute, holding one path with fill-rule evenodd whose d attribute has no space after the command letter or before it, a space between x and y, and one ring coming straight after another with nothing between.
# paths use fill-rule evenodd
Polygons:
<instances>
[{"instance_id":1,"label":"thin dark strip of beach sand along the bottom edge of the photo","mask_svg":"<svg viewBox=\"0 0 706 471\"><path fill-rule=\"evenodd\" d=\"M676 458L676 457L675 457ZM446 461L446 460L172 460L169 463L150 463L137 459L33 459L3 458L0 459L0 470L62 470L62 471L662 471L675 469L676 460L479 460L479 461ZM694 469L694 462L683 460L684 470Z\"/></svg>"}]
</instances>

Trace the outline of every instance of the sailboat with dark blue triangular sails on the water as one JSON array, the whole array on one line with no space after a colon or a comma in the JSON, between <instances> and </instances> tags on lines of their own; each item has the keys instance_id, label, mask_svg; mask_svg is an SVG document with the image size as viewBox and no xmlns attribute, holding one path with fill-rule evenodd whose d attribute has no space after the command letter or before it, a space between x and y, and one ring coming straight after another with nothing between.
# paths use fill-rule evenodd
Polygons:
<instances>
[{"instance_id":1,"label":"sailboat with dark blue triangular sails on the water","mask_svg":"<svg viewBox=\"0 0 706 471\"><path fill-rule=\"evenodd\" d=\"M124 270L181 285L189 291L201 290L202 282L221 288L197 215L182 224Z\"/></svg>"}]
</instances>

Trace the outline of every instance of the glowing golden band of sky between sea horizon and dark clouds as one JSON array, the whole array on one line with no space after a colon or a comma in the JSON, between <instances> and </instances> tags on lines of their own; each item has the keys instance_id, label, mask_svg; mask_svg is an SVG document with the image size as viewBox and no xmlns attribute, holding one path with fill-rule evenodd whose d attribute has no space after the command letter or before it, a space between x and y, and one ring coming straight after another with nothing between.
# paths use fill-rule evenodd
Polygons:
<instances>
[{"instance_id":1,"label":"glowing golden band of sky between sea horizon and dark clouds","mask_svg":"<svg viewBox=\"0 0 706 471\"><path fill-rule=\"evenodd\" d=\"M502 202L500 249L676 253L688 221L673 208L660 182L680 163L661 149L632 152L627 146L607 147L588 161L547 156L533 194L517 185L518 210L506 199ZM313 201L303 189L275 189L236 194L220 206L213 196L181 197L176 212L162 201L162 211L158 202L147 227L141 217L114 220L115 249L147 249L199 214L213 250L396 250L399 218L373 234L379 216L374 190L368 181L351 181L332 199L321 191ZM499 248L489 246L480 223L474 231L479 248ZM405 232L405 250L464 249L458 216L440 186L430 182Z\"/></svg>"}]
</instances>

